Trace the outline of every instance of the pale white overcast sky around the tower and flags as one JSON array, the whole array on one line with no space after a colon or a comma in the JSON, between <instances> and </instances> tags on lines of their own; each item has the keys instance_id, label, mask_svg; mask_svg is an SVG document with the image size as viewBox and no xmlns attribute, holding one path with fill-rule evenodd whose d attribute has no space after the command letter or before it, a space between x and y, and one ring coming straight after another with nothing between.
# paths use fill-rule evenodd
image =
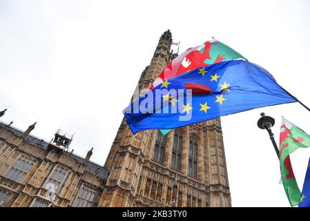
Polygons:
<instances>
[{"instance_id":1,"label":"pale white overcast sky around the tower and flags","mask_svg":"<svg viewBox=\"0 0 310 221\"><path fill-rule=\"evenodd\" d=\"M266 68L310 106L309 1L0 0L1 121L50 140L61 127L71 148L104 164L139 76L170 29L180 52L211 37ZM173 46L177 50L176 46ZM260 113L310 133L310 113L282 104L222 117L233 206L289 206ZM291 156L302 189L310 148Z\"/></svg>"}]
</instances>

